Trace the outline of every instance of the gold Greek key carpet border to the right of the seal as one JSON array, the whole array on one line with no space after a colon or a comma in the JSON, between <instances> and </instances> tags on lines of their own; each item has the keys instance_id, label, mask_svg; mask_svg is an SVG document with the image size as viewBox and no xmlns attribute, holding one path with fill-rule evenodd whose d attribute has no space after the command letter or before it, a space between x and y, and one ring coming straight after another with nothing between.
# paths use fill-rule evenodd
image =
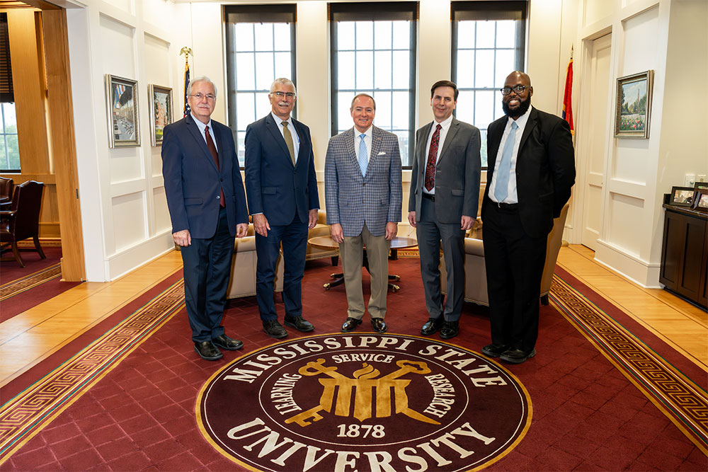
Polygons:
<instances>
[{"instance_id":1,"label":"gold Greek key carpet border to the right of the seal","mask_svg":"<svg viewBox=\"0 0 708 472\"><path fill-rule=\"evenodd\" d=\"M553 276L550 295L554 307L604 350L653 403L663 406L660 410L705 454L708 449L706 391L557 275Z\"/></svg>"}]
</instances>

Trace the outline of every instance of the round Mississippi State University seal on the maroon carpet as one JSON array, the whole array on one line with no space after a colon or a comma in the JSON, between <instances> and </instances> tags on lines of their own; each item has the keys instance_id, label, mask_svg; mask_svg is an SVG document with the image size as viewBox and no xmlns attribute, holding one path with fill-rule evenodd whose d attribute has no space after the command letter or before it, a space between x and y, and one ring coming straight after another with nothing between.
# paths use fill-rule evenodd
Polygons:
<instances>
[{"instance_id":1,"label":"round Mississippi State University seal on the maroon carpet","mask_svg":"<svg viewBox=\"0 0 708 472\"><path fill-rule=\"evenodd\" d=\"M404 335L319 335L244 355L197 401L224 456L263 471L464 471L523 438L531 402L500 365Z\"/></svg>"}]
</instances>

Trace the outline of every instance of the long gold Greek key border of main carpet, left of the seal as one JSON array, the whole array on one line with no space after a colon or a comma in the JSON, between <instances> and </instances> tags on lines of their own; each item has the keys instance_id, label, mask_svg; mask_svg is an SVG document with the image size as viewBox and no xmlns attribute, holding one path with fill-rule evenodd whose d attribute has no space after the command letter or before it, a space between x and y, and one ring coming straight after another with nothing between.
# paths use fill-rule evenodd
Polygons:
<instances>
[{"instance_id":1,"label":"long gold Greek key border of main carpet, left of the seal","mask_svg":"<svg viewBox=\"0 0 708 472\"><path fill-rule=\"evenodd\" d=\"M184 305L180 279L0 408L0 464Z\"/></svg>"}]
</instances>

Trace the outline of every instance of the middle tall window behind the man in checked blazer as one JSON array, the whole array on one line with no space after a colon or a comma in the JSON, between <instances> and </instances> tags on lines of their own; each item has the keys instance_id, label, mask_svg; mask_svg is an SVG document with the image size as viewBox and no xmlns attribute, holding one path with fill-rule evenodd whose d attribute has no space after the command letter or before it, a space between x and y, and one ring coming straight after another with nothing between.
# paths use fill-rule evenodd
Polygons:
<instances>
[{"instance_id":1,"label":"middle tall window behind the man in checked blazer","mask_svg":"<svg viewBox=\"0 0 708 472\"><path fill-rule=\"evenodd\" d=\"M351 100L376 100L374 125L399 137L401 163L411 167L416 79L417 4L330 4L332 134L353 126Z\"/></svg>"}]
</instances>

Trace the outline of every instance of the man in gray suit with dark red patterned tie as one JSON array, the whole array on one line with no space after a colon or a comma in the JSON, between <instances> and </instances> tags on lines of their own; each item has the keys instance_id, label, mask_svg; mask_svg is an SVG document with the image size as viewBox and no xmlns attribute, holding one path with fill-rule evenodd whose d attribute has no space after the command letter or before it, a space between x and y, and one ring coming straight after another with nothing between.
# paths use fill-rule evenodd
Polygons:
<instances>
[{"instance_id":1,"label":"man in gray suit with dark red patterned tie","mask_svg":"<svg viewBox=\"0 0 708 472\"><path fill-rule=\"evenodd\" d=\"M408 220L416 227L428 322L422 335L440 329L454 338L464 295L464 231L472 228L479 202L479 129L452 116L457 86L438 81L430 88L435 120L416 132ZM447 267L447 300L440 294L440 242Z\"/></svg>"}]
</instances>

